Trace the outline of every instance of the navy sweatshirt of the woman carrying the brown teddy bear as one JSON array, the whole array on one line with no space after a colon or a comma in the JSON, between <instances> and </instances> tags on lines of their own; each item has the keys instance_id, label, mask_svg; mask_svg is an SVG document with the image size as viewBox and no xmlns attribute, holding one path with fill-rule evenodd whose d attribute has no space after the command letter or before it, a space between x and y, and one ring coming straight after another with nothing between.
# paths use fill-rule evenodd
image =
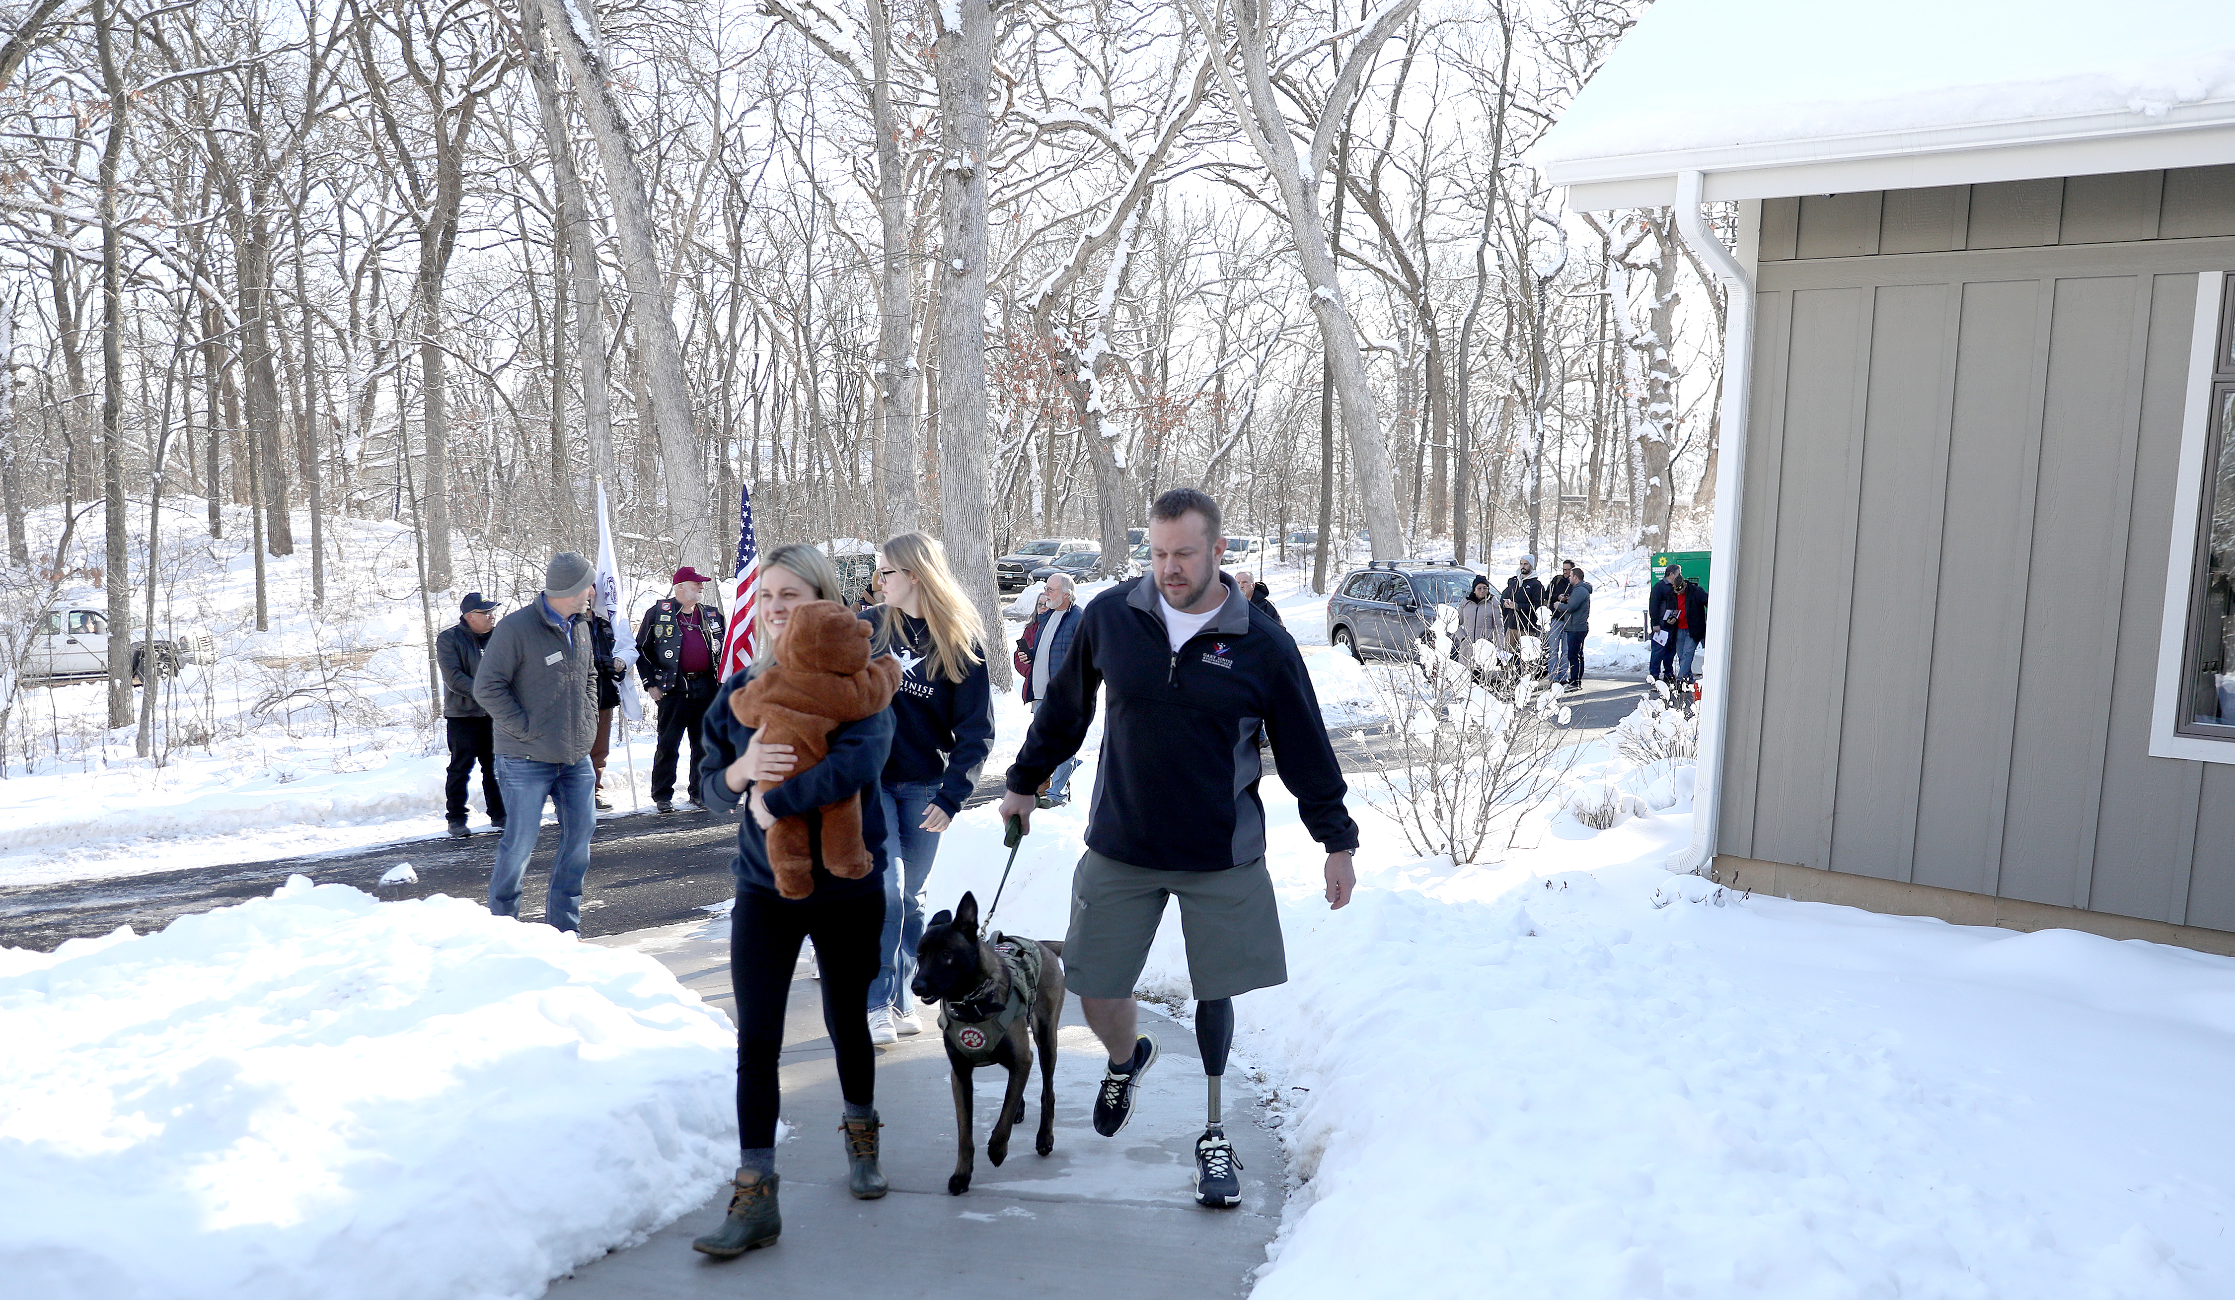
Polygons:
<instances>
[{"instance_id":1,"label":"navy sweatshirt of the woman carrying the brown teddy bear","mask_svg":"<svg viewBox=\"0 0 2235 1300\"><path fill-rule=\"evenodd\" d=\"M776 873L769 871L769 833L744 806L744 795L729 788L722 773L738 762L744 746L753 742L753 728L738 721L729 710L729 692L753 679L753 670L731 677L706 706L706 755L700 762L700 793L706 806L738 813L738 855L729 860L729 873L738 878L738 889L753 889L769 898L776 891ZM769 811L778 818L811 813L825 804L836 804L847 795L860 795L860 838L869 847L872 871L860 880L840 880L816 862L816 891L798 902L827 902L831 898L856 898L860 893L885 891L885 800L876 782L885 771L885 753L892 748L892 710L885 708L860 721L845 721L831 733L831 751L816 766L793 773L791 780L769 791ZM746 786L751 788L751 786ZM784 898L784 902L793 902Z\"/></svg>"}]
</instances>

